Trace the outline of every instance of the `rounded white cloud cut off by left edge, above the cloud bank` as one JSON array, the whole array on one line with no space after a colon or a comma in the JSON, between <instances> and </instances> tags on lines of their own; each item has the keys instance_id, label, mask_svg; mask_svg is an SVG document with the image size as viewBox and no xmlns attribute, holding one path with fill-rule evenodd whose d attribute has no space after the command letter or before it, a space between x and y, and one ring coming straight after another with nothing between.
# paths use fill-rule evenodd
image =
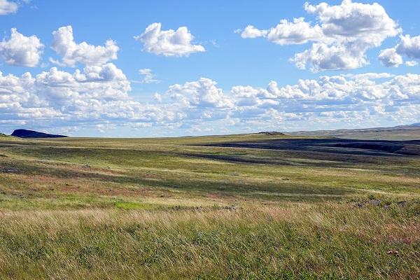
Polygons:
<instances>
[{"instance_id":1,"label":"rounded white cloud cut off by left edge, above the cloud bank","mask_svg":"<svg viewBox=\"0 0 420 280\"><path fill-rule=\"evenodd\" d=\"M8 40L0 42L0 57L7 64L15 66L35 67L43 52L43 44L35 35L25 36L17 29L11 29Z\"/></svg>"}]
</instances>

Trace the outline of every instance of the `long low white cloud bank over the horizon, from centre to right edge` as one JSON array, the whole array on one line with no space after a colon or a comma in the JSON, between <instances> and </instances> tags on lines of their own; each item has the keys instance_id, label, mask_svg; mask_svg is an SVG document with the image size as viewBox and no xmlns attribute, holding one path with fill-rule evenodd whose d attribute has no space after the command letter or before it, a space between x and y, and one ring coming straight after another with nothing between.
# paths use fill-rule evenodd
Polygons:
<instances>
[{"instance_id":1,"label":"long low white cloud bank over the horizon, from centre to right edge","mask_svg":"<svg viewBox=\"0 0 420 280\"><path fill-rule=\"evenodd\" d=\"M208 94L211 102L203 102ZM322 122L354 126L395 122L395 111L400 114L406 106L420 109L420 75L321 76L316 80L298 80L293 85L280 86L272 81L266 88L237 85L229 91L217 87L214 80L200 78L173 85L164 96L171 97L176 109L186 114L182 127L190 127L191 132L206 123L230 127L228 120L237 120L232 124L235 127L254 130L279 130L279 125L290 129L309 125L313 129L311 125ZM411 115L406 122L416 122L419 116L420 113Z\"/></svg>"}]
</instances>

